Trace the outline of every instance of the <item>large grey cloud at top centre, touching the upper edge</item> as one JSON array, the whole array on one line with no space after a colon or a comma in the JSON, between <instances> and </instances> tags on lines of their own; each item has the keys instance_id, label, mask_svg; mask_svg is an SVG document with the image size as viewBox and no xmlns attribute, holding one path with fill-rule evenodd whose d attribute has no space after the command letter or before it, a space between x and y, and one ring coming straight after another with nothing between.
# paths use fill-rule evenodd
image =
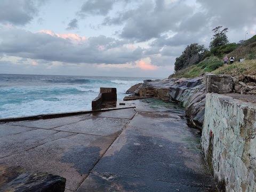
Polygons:
<instances>
[{"instance_id":1,"label":"large grey cloud at top centre, touching the upper edge","mask_svg":"<svg viewBox=\"0 0 256 192\"><path fill-rule=\"evenodd\" d=\"M121 25L124 27L120 36L143 42L158 38L162 33L176 31L179 23L188 18L193 10L185 3L163 0L144 1L138 7L121 12L116 17L107 17L102 25Z\"/></svg>"}]
</instances>

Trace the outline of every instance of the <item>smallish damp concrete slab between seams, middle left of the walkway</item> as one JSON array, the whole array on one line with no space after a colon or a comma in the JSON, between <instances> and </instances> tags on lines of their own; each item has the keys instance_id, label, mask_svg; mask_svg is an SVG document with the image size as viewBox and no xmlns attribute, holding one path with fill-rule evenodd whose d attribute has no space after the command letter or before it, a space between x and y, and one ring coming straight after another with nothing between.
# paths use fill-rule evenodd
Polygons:
<instances>
[{"instance_id":1,"label":"smallish damp concrete slab between seams, middle left of the walkway","mask_svg":"<svg viewBox=\"0 0 256 192\"><path fill-rule=\"evenodd\" d=\"M116 138L129 119L90 117L84 121L57 127L53 130L93 134Z\"/></svg>"}]
</instances>

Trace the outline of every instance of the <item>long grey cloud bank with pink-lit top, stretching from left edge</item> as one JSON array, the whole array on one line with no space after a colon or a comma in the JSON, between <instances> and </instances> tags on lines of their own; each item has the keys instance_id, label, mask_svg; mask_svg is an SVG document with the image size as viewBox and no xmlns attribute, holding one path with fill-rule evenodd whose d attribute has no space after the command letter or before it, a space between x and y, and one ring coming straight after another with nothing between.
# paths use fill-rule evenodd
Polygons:
<instances>
[{"instance_id":1,"label":"long grey cloud bank with pink-lit top, stretching from left edge","mask_svg":"<svg viewBox=\"0 0 256 192\"><path fill-rule=\"evenodd\" d=\"M41 33L17 28L0 30L0 53L34 60L116 64L139 60L143 51L141 47L130 49L126 41L103 35L85 38L50 30Z\"/></svg>"}]
</instances>

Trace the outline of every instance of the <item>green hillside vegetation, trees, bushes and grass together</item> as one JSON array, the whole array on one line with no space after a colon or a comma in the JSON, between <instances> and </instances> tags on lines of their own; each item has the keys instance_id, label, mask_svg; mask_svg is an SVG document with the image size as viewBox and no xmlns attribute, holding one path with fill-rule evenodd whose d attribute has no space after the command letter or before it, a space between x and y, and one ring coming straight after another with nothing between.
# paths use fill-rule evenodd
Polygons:
<instances>
[{"instance_id":1,"label":"green hillside vegetation, trees, bushes and grass together","mask_svg":"<svg viewBox=\"0 0 256 192\"><path fill-rule=\"evenodd\" d=\"M256 35L246 41L229 43L226 33L228 28L221 30L222 26L214 28L214 35L210 42L210 50L198 43L190 44L176 58L173 77L192 78L205 72L216 74L255 73L256 68ZM223 57L235 57L233 65L223 66ZM244 62L239 62L243 58ZM251 61L250 61L251 60Z\"/></svg>"}]
</instances>

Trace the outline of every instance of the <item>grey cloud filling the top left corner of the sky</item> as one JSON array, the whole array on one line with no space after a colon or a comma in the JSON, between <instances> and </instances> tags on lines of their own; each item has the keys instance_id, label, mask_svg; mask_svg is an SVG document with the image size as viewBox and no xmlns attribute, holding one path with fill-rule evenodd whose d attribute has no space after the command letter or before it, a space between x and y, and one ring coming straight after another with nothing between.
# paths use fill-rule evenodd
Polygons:
<instances>
[{"instance_id":1,"label":"grey cloud filling the top left corner of the sky","mask_svg":"<svg viewBox=\"0 0 256 192\"><path fill-rule=\"evenodd\" d=\"M0 1L0 22L12 25L26 25L38 13L38 7L45 1L8 0Z\"/></svg>"}]
</instances>

